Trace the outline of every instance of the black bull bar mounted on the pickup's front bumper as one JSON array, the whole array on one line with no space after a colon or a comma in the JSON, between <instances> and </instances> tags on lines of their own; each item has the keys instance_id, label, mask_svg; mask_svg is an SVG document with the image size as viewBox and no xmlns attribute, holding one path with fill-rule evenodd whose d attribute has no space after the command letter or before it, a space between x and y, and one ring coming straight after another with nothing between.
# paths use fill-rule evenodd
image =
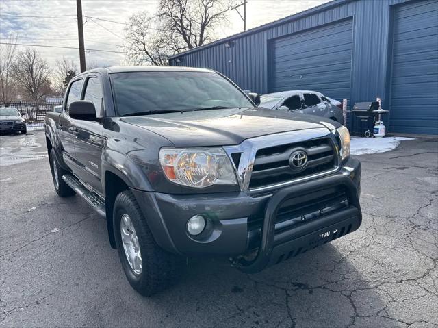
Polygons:
<instances>
[{"instance_id":1,"label":"black bull bar mounted on the pickup's front bumper","mask_svg":"<svg viewBox=\"0 0 438 328\"><path fill-rule=\"evenodd\" d=\"M344 186L348 199L348 207L313 220L305 225L290 229L280 234L275 234L275 218L279 207L284 201L302 194L311 194L318 190ZM243 257L234 261L234 265L245 273L257 273L267 266L281 262L298 253L330 242L335 238L348 234L359 228L362 222L361 207L357 186L350 177L342 174L324 177L309 181L305 184L289 186L277 191L266 204L263 227L261 229L261 242L254 260L248 261ZM348 227L348 229L346 229ZM342 231L342 234L339 234ZM295 255L298 255L295 253Z\"/></svg>"}]
</instances>

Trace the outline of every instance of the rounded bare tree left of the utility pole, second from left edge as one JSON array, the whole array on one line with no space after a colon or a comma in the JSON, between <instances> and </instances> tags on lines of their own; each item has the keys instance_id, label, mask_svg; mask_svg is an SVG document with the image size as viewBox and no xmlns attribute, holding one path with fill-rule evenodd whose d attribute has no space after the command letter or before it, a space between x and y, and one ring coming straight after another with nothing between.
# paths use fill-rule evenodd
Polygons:
<instances>
[{"instance_id":1,"label":"rounded bare tree left of the utility pole, second from left edge","mask_svg":"<svg viewBox=\"0 0 438 328\"><path fill-rule=\"evenodd\" d=\"M49 64L35 49L26 48L18 52L13 66L14 79L32 101L44 97L44 85L49 81Z\"/></svg>"}]
</instances>

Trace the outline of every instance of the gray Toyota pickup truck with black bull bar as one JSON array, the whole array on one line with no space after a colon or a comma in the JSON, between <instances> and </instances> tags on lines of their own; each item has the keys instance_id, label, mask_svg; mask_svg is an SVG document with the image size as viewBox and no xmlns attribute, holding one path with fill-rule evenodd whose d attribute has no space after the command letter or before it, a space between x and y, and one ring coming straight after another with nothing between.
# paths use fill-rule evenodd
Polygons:
<instances>
[{"instance_id":1,"label":"gray Toyota pickup truck with black bull bar","mask_svg":"<svg viewBox=\"0 0 438 328\"><path fill-rule=\"evenodd\" d=\"M258 103L206 69L99 68L47 114L57 194L106 218L140 294L177 281L184 257L255 273L361 225L348 130Z\"/></svg>"}]
</instances>

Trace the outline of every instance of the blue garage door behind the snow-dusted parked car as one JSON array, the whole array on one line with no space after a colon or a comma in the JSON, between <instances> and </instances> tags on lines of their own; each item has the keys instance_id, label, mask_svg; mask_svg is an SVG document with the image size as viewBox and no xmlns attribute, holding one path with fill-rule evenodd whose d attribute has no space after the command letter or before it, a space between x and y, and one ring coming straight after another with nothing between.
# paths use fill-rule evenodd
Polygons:
<instances>
[{"instance_id":1,"label":"blue garage door behind the snow-dusted parked car","mask_svg":"<svg viewBox=\"0 0 438 328\"><path fill-rule=\"evenodd\" d=\"M270 92L315 90L350 99L352 20L272 40Z\"/></svg>"}]
</instances>

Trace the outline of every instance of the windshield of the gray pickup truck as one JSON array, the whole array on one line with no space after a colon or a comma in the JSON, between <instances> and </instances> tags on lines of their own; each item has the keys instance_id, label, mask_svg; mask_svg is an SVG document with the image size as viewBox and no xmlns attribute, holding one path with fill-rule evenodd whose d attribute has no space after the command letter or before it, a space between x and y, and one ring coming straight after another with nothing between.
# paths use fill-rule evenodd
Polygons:
<instances>
[{"instance_id":1,"label":"windshield of the gray pickup truck","mask_svg":"<svg viewBox=\"0 0 438 328\"><path fill-rule=\"evenodd\" d=\"M130 72L110 75L119 116L254 107L218 73Z\"/></svg>"}]
</instances>

